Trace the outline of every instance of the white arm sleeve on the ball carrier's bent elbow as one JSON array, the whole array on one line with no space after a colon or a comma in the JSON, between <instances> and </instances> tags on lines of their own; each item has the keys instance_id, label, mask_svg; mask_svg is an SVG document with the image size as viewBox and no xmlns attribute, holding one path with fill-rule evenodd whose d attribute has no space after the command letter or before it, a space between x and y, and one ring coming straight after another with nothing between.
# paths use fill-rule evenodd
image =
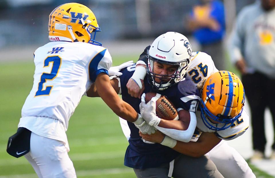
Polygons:
<instances>
[{"instance_id":1,"label":"white arm sleeve on the ball carrier's bent elbow","mask_svg":"<svg viewBox=\"0 0 275 178\"><path fill-rule=\"evenodd\" d=\"M194 134L197 125L197 118L195 113L190 111L189 113L190 124L187 130L166 129L159 126L156 126L156 129L175 140L179 140L181 142L189 142Z\"/></svg>"}]
</instances>

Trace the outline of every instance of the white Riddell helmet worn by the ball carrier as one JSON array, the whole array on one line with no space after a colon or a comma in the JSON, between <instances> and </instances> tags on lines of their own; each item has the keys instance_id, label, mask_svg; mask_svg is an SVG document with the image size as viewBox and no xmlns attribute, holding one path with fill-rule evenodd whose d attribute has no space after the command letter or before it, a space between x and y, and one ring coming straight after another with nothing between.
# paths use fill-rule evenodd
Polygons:
<instances>
[{"instance_id":1,"label":"white Riddell helmet worn by the ball carrier","mask_svg":"<svg viewBox=\"0 0 275 178\"><path fill-rule=\"evenodd\" d=\"M147 74L149 83L153 84L155 89L164 90L180 82L189 66L192 47L188 39L177 32L167 32L154 40L150 49L147 51ZM178 65L178 69L172 75L160 75L153 72L154 62ZM157 75L157 76L156 76ZM159 77L160 76L160 77ZM170 78L169 82L157 83L155 78Z\"/></svg>"}]
</instances>

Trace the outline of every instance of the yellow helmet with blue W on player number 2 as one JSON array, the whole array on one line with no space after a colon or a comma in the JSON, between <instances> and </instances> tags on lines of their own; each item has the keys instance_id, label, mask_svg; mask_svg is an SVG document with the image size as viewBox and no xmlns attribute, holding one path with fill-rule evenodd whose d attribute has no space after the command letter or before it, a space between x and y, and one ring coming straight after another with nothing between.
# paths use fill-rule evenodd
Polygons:
<instances>
[{"instance_id":1,"label":"yellow helmet with blue W on player number 2","mask_svg":"<svg viewBox=\"0 0 275 178\"><path fill-rule=\"evenodd\" d=\"M95 41L96 32L101 31L97 19L91 9L82 4L66 3L56 7L50 13L48 31L51 41L80 41L102 45Z\"/></svg>"}]
</instances>

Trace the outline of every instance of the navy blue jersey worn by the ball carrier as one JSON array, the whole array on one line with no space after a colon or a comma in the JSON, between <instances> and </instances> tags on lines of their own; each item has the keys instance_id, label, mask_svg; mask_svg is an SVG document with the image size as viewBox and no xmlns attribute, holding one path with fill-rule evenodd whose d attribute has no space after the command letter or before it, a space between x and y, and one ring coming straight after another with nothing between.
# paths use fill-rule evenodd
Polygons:
<instances>
[{"instance_id":1,"label":"navy blue jersey worn by the ball carrier","mask_svg":"<svg viewBox=\"0 0 275 178\"><path fill-rule=\"evenodd\" d=\"M135 65L126 67L120 72L123 73L120 78L121 85L121 95L122 99L129 103L137 113L140 113L140 102L139 98L131 97L128 94L128 89L126 84L131 78L135 70ZM176 85L170 86L165 90L154 91L152 86L147 80L147 75L144 78L144 93L157 92L159 94L165 95L171 102L174 103L176 108L182 108L189 111L196 111L197 105L199 103L199 90L197 89L194 82L186 80L179 82ZM197 96L197 97L194 97ZM144 143L139 136L139 129L131 122L127 122L131 130L129 138L129 146L127 147L124 165L127 167L132 167L135 169L146 169L159 167L163 163L170 162L174 160L180 153L175 150L163 146L161 144L149 144Z\"/></svg>"}]
</instances>

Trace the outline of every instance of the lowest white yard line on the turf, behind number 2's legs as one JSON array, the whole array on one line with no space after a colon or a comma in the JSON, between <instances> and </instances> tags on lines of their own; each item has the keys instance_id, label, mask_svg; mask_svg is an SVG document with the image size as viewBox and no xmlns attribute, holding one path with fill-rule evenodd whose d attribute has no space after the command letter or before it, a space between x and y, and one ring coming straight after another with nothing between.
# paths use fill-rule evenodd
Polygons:
<instances>
[{"instance_id":1,"label":"lowest white yard line on the turf, behind number 2's legs","mask_svg":"<svg viewBox=\"0 0 275 178\"><path fill-rule=\"evenodd\" d=\"M93 176L93 175L108 175L108 174L121 174L121 173L133 173L131 168L112 168L112 169L95 169L90 171L76 171L76 176ZM36 174L17 174L17 175L5 175L0 178L37 178Z\"/></svg>"}]
</instances>

